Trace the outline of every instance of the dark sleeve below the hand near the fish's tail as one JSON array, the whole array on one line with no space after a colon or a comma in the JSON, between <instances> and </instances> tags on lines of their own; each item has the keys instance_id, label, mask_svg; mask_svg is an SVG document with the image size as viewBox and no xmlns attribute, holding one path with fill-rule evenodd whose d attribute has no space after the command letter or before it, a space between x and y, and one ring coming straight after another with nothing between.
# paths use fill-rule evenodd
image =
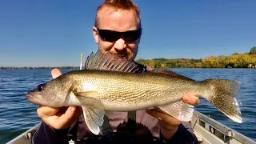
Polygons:
<instances>
[{"instance_id":1,"label":"dark sleeve below the hand near the fish's tail","mask_svg":"<svg viewBox=\"0 0 256 144\"><path fill-rule=\"evenodd\" d=\"M161 138L161 137L160 137ZM161 138L162 139L162 138ZM193 130L190 127L190 122L182 122L178 126L177 132L169 141L164 141L165 143L194 143L198 144L198 139L196 138Z\"/></svg>"}]
</instances>

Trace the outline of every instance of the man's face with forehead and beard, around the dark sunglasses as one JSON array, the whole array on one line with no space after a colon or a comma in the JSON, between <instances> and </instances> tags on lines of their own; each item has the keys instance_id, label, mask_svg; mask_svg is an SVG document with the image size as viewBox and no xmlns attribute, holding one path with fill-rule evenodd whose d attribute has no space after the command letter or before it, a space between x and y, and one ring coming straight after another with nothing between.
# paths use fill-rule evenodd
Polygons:
<instances>
[{"instance_id":1,"label":"man's face with forehead and beard, around the dark sunglasses","mask_svg":"<svg viewBox=\"0 0 256 144\"><path fill-rule=\"evenodd\" d=\"M98 29L118 32L138 30L138 18L134 10L116 10L105 7L98 12ZM93 34L95 42L102 52L109 51L112 54L118 54L120 57L126 57L129 60L134 60L136 57L140 37L133 42L126 42L123 38L118 38L114 42L108 42L98 34L96 27L93 28Z\"/></svg>"}]
</instances>

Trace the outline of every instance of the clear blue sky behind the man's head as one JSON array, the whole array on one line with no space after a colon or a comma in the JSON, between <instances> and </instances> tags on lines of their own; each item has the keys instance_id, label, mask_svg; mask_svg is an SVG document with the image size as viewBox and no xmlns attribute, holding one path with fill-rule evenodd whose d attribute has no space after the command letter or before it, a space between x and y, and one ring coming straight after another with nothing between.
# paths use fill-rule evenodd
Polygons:
<instances>
[{"instance_id":1,"label":"clear blue sky behind the man's head","mask_svg":"<svg viewBox=\"0 0 256 144\"><path fill-rule=\"evenodd\" d=\"M0 66L79 66L97 50L92 34L102 0L13 0L0 5ZM256 46L256 1L135 0L137 58L205 58Z\"/></svg>"}]
</instances>

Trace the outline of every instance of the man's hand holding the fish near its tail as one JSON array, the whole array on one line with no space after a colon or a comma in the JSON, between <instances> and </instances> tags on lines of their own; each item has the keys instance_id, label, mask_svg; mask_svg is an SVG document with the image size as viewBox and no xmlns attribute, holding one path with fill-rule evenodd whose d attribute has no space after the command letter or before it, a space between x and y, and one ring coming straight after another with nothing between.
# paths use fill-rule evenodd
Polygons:
<instances>
[{"instance_id":1,"label":"man's hand holding the fish near its tail","mask_svg":"<svg viewBox=\"0 0 256 144\"><path fill-rule=\"evenodd\" d=\"M199 98L193 94L185 94L182 97L182 101L186 102L192 106L197 106L200 102ZM147 114L159 119L159 126L163 138L169 140L178 130L178 126L182 123L178 119L165 114L159 108L154 108L153 110L146 110Z\"/></svg>"}]
</instances>

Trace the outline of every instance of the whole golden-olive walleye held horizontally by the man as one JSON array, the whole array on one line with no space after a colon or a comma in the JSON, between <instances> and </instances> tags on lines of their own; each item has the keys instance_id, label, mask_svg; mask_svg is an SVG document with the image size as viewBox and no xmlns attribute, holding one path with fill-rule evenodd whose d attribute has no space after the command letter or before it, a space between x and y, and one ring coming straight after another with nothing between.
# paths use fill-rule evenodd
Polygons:
<instances>
[{"instance_id":1,"label":"whole golden-olive walleye held horizontally by the man","mask_svg":"<svg viewBox=\"0 0 256 144\"><path fill-rule=\"evenodd\" d=\"M194 106L182 102L183 94L205 98L228 118L242 123L236 96L241 82L224 78L195 81L173 70L146 70L146 66L116 54L92 52L83 70L73 70L36 86L26 94L35 105L81 106L86 125L98 135L104 115L113 111L158 107L182 122L191 120Z\"/></svg>"}]
</instances>

